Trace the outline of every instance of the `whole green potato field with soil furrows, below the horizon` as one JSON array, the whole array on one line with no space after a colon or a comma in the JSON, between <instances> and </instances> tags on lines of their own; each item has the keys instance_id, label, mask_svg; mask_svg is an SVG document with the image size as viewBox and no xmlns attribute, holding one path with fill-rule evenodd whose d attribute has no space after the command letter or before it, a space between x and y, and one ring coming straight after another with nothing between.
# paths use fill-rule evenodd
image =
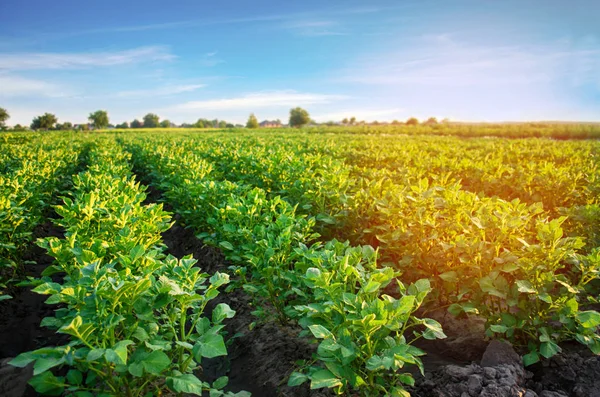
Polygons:
<instances>
[{"instance_id":1,"label":"whole green potato field with soil furrows, below the horizon","mask_svg":"<svg viewBox=\"0 0 600 397\"><path fill-rule=\"evenodd\" d=\"M0 392L594 395L600 142L505 128L3 134Z\"/></svg>"}]
</instances>

